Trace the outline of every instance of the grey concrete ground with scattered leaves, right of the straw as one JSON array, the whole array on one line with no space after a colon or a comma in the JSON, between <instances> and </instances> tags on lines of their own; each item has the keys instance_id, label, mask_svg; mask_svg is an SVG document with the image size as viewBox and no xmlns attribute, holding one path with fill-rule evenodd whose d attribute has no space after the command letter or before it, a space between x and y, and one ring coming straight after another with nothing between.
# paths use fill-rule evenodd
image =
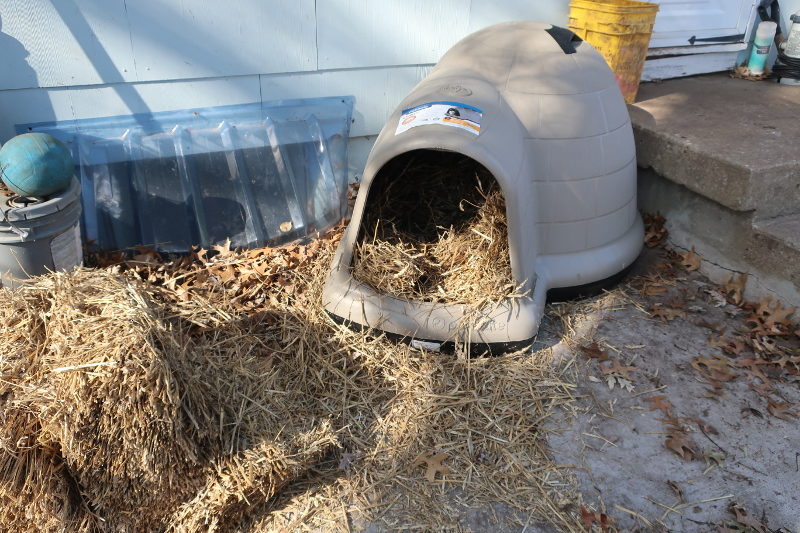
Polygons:
<instances>
[{"instance_id":1,"label":"grey concrete ground with scattered leaves, right of the straw","mask_svg":"<svg viewBox=\"0 0 800 533\"><path fill-rule=\"evenodd\" d=\"M663 282L648 283L644 294L629 289L629 298L599 297L603 309L577 319L579 344L598 345L588 350L594 357L563 342L553 347L563 360L575 358L580 395L575 410L549 422L556 462L573 465L584 501L621 531L798 532L800 425L796 408L789 414L776 406L800 402L800 382L769 370L771 403L760 395L762 380L736 366L753 352L732 344L739 353L730 355L711 345L742 338L747 313L697 272L662 276L668 260L663 249L646 250L633 275ZM656 314L673 310L672 320L650 315L659 303L665 311ZM796 340L778 343L797 355ZM722 371L717 387L703 362ZM617 364L622 370L608 372ZM629 380L614 378L610 388L618 375ZM738 522L731 522L734 504Z\"/></svg>"}]
</instances>

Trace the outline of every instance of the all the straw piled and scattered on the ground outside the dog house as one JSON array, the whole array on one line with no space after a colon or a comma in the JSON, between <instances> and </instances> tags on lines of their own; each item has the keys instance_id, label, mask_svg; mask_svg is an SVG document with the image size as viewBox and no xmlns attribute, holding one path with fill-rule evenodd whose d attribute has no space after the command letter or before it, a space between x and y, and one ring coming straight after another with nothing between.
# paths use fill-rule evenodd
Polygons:
<instances>
[{"instance_id":1,"label":"all the straw piled and scattered on the ground outside the dog house","mask_svg":"<svg viewBox=\"0 0 800 533\"><path fill-rule=\"evenodd\" d=\"M0 290L0 530L442 530L492 502L579 530L539 432L572 399L549 352L337 328L320 298L340 235Z\"/></svg>"}]
</instances>

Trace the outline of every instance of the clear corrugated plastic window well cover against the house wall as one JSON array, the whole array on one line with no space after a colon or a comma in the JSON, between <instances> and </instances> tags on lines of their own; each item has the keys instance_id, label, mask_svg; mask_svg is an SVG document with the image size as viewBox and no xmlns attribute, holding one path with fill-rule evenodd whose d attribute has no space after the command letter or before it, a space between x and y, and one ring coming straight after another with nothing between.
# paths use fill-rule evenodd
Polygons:
<instances>
[{"instance_id":1,"label":"clear corrugated plastic window well cover against the house wall","mask_svg":"<svg viewBox=\"0 0 800 533\"><path fill-rule=\"evenodd\" d=\"M345 214L352 97L21 125L67 142L104 250L279 245Z\"/></svg>"}]
</instances>

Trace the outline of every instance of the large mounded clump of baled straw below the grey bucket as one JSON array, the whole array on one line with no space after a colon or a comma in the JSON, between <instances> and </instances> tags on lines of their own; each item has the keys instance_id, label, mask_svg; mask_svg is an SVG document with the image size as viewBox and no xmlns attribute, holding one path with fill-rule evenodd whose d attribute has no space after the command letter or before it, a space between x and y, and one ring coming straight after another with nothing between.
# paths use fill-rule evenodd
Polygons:
<instances>
[{"instance_id":1,"label":"large mounded clump of baled straw below the grey bucket","mask_svg":"<svg viewBox=\"0 0 800 533\"><path fill-rule=\"evenodd\" d=\"M101 515L136 511L146 523L177 505L202 449L182 410L198 391L181 379L181 345L151 298L91 271L43 278L21 297L44 318L29 330L43 342L18 361L7 411L36 417Z\"/></svg>"}]
</instances>

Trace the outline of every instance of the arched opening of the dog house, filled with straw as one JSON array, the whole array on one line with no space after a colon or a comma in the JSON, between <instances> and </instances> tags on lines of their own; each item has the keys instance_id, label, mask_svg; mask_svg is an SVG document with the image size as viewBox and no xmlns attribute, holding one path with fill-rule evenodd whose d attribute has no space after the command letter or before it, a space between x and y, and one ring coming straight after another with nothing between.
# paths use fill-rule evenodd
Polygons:
<instances>
[{"instance_id":1,"label":"arched opening of the dog house, filled with straw","mask_svg":"<svg viewBox=\"0 0 800 533\"><path fill-rule=\"evenodd\" d=\"M370 187L352 275L390 296L476 309L513 295L497 180L456 152L390 160Z\"/></svg>"}]
</instances>

